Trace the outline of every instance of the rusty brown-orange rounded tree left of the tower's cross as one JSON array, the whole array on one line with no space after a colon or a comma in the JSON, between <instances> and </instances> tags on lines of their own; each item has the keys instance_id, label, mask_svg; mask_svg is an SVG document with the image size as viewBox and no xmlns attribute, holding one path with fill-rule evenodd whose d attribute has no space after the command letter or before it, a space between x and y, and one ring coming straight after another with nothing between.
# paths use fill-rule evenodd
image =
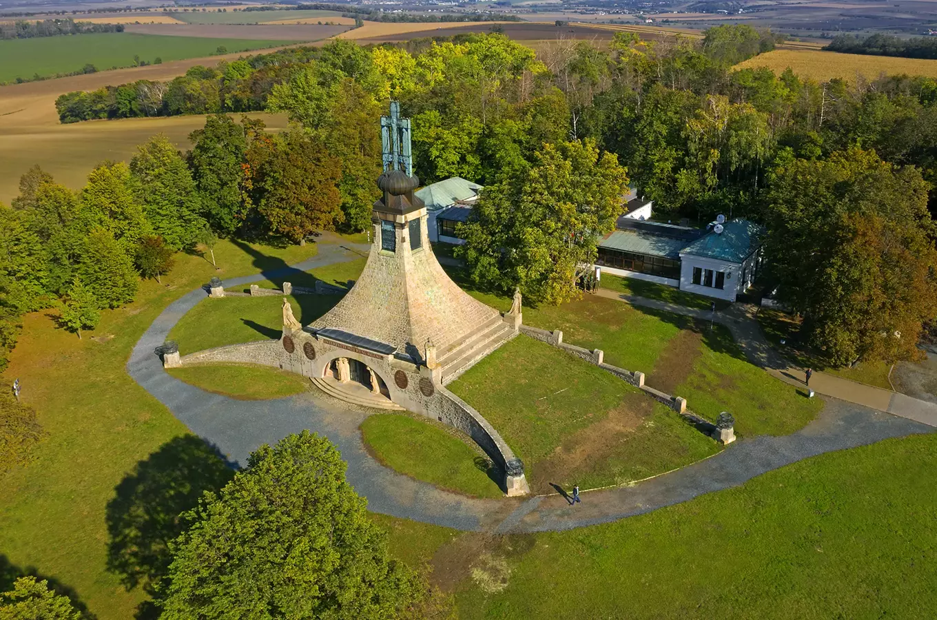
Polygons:
<instances>
[{"instance_id":1,"label":"rusty brown-orange rounded tree left of the tower's cross","mask_svg":"<svg viewBox=\"0 0 937 620\"><path fill-rule=\"evenodd\" d=\"M344 220L336 184L339 161L301 130L258 136L246 153L245 202L270 233L302 244L313 230L335 229Z\"/></svg>"}]
</instances>

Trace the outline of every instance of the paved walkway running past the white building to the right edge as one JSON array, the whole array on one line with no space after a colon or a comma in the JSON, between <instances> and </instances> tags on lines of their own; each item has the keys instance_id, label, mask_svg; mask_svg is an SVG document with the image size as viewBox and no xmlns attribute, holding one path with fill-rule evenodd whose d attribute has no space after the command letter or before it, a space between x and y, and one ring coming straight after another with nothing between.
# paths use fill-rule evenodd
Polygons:
<instances>
[{"instance_id":1,"label":"paved walkway running past the white building to the right edge","mask_svg":"<svg viewBox=\"0 0 937 620\"><path fill-rule=\"evenodd\" d=\"M736 344L742 349L751 363L761 366L781 381L807 389L804 383L804 369L791 365L774 347L771 347L761 331L758 320L755 318L758 308L751 303L734 303L726 310L713 313L708 310L688 308L677 303L626 295L607 288L600 288L597 294L600 297L656 310L666 310L678 315L696 317L702 320L710 320L711 318L727 327L729 332L732 332ZM813 371L810 387L819 394L839 398L848 403L869 406L908 420L937 426L937 404L912 398L897 391L883 390L819 371Z\"/></svg>"}]
</instances>

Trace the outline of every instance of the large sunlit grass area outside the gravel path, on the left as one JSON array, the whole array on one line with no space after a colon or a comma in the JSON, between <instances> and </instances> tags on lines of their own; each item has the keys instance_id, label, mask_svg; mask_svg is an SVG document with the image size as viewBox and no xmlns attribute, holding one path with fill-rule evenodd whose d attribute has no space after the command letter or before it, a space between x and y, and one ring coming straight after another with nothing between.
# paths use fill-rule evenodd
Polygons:
<instances>
[{"instance_id":1,"label":"large sunlit grass area outside the gravel path, on the left","mask_svg":"<svg viewBox=\"0 0 937 620\"><path fill-rule=\"evenodd\" d=\"M256 273L316 253L221 242L221 276ZM82 340L55 329L51 312L23 317L23 332L3 377L20 377L25 402L49 432L36 460L0 478L0 565L35 569L67 588L100 620L126 620L145 596L126 592L107 566L106 507L138 462L186 435L186 427L126 374L140 334L173 300L217 272L201 256L177 255L163 284L141 284L135 303L102 313Z\"/></svg>"}]
</instances>

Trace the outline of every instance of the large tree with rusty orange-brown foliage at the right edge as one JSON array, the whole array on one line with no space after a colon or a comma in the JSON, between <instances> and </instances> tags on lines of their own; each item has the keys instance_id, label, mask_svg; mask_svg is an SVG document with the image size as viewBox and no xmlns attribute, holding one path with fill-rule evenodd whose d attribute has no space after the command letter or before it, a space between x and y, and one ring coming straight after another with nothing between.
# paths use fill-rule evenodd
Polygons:
<instances>
[{"instance_id":1,"label":"large tree with rusty orange-brown foliage at the right edge","mask_svg":"<svg viewBox=\"0 0 937 620\"><path fill-rule=\"evenodd\" d=\"M937 317L928 185L870 151L788 158L770 177L766 257L779 298L829 362L914 358Z\"/></svg>"}]
</instances>

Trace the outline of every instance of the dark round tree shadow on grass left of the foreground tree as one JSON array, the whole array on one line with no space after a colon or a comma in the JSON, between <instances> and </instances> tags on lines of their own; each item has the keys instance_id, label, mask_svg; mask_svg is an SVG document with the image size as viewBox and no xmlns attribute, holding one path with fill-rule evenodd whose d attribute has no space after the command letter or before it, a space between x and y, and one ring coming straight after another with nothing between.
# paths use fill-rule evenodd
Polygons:
<instances>
[{"instance_id":1,"label":"dark round tree shadow on grass left of the foreground tree","mask_svg":"<svg viewBox=\"0 0 937 620\"><path fill-rule=\"evenodd\" d=\"M127 590L142 587L152 595L170 566L171 540L186 529L182 514L233 475L233 465L195 435L173 437L140 461L108 502L108 569ZM156 617L149 615L152 607L141 604L137 617Z\"/></svg>"}]
</instances>

